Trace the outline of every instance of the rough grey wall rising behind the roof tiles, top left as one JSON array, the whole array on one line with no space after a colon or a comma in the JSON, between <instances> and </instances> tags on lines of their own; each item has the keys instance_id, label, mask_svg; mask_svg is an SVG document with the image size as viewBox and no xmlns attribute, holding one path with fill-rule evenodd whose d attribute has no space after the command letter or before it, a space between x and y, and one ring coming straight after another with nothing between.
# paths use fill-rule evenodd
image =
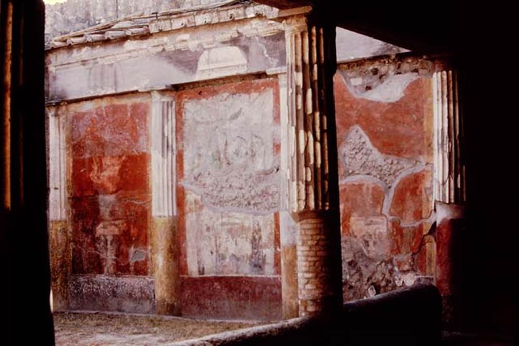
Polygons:
<instances>
[{"instance_id":1,"label":"rough grey wall rising behind the roof tiles, top left","mask_svg":"<svg viewBox=\"0 0 519 346\"><path fill-rule=\"evenodd\" d=\"M221 3L222 0L67 0L45 6L45 41L136 13Z\"/></svg>"}]
</instances>

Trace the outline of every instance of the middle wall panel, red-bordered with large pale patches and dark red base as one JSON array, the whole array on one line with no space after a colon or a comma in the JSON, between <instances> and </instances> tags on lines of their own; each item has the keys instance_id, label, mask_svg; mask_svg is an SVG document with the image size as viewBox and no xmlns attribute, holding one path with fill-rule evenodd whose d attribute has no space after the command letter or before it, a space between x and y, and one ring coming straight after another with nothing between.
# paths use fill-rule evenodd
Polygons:
<instances>
[{"instance_id":1,"label":"middle wall panel, red-bordered with large pale patches and dark red base","mask_svg":"<svg viewBox=\"0 0 519 346\"><path fill-rule=\"evenodd\" d=\"M280 317L277 86L268 78L177 94L184 315Z\"/></svg>"}]
</instances>

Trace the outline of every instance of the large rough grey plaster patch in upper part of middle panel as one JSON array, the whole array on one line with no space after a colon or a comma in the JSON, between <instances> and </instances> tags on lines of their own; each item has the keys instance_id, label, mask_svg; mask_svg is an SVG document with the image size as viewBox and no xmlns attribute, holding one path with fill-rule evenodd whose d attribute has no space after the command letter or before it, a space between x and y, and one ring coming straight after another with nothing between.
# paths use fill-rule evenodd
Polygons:
<instances>
[{"instance_id":1,"label":"large rough grey plaster patch in upper part of middle panel","mask_svg":"<svg viewBox=\"0 0 519 346\"><path fill-rule=\"evenodd\" d=\"M279 209L273 102L270 90L186 102L182 184L204 205L251 214Z\"/></svg>"}]
</instances>

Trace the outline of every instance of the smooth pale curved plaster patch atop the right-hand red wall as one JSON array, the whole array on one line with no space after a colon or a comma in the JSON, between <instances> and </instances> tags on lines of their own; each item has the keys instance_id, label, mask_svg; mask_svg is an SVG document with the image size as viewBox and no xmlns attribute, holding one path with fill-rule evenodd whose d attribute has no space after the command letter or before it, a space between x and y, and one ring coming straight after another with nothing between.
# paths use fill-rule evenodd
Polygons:
<instances>
[{"instance_id":1,"label":"smooth pale curved plaster patch atop the right-hand red wall","mask_svg":"<svg viewBox=\"0 0 519 346\"><path fill-rule=\"evenodd\" d=\"M387 77L380 85L365 92L359 92L357 88L352 88L352 85L359 86L362 84L361 77L351 78L350 80L348 80L348 78L345 78L345 81L348 90L357 98L366 99L370 101L391 103L397 102L401 98L403 98L405 88L407 88L409 83L411 83L418 77L419 76L416 73L406 73L402 75L390 76Z\"/></svg>"}]
</instances>

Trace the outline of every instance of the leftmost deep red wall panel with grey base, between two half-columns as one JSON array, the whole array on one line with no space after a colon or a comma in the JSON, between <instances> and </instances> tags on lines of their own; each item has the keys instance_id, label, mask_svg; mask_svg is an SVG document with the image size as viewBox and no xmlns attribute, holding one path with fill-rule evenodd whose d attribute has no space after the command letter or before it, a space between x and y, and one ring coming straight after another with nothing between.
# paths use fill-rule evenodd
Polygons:
<instances>
[{"instance_id":1,"label":"leftmost deep red wall panel with grey base, between two half-columns","mask_svg":"<svg viewBox=\"0 0 519 346\"><path fill-rule=\"evenodd\" d=\"M72 274L89 277L88 285L82 284L86 279L70 281L72 307L88 308L88 287L106 285L112 287L114 299L131 300L134 290L144 292L134 299L153 300L147 281L119 276L149 273L149 104L147 95L128 95L63 106L69 141ZM113 278L106 281L106 275ZM133 287L133 282L142 288ZM111 299L99 299L103 297ZM136 308L132 303L100 302L104 303L106 309ZM142 312L152 311L153 301L142 304Z\"/></svg>"}]
</instances>

